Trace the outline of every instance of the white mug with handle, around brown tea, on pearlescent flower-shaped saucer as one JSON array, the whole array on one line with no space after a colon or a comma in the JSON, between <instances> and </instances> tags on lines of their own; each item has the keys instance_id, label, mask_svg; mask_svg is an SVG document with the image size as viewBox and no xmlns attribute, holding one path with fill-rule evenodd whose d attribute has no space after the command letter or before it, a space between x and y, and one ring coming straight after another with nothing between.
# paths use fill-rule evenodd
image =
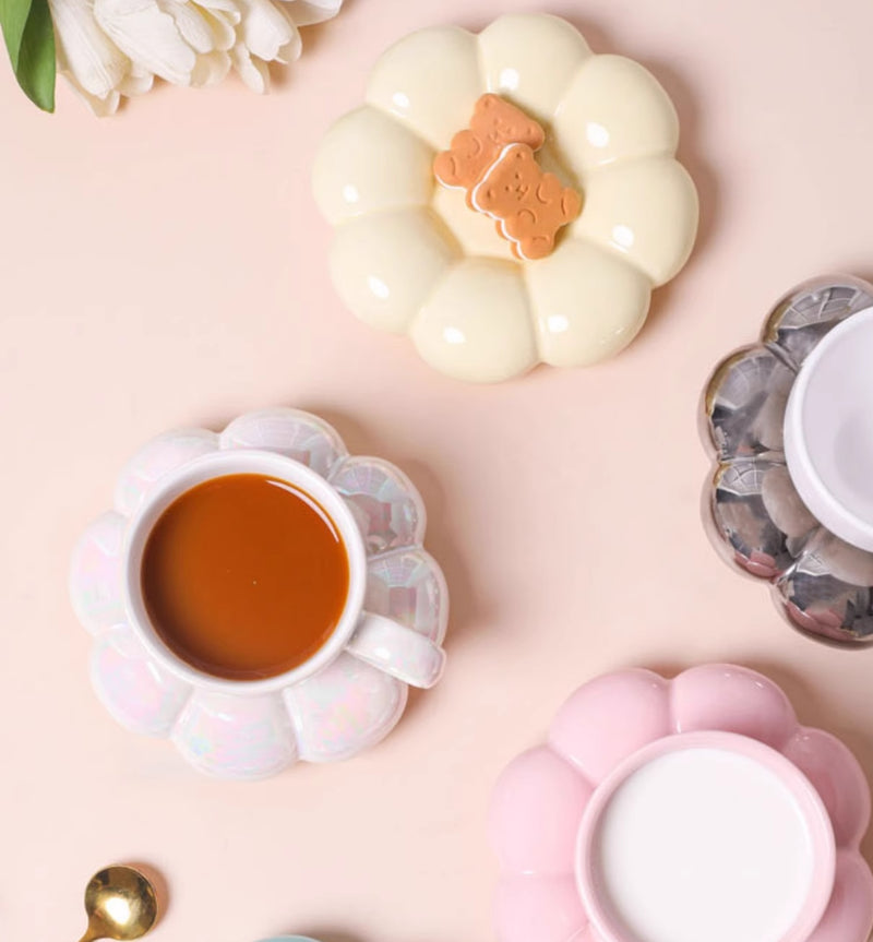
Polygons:
<instances>
[{"instance_id":1,"label":"white mug with handle, around brown tea, on pearlescent flower-shaped saucer","mask_svg":"<svg viewBox=\"0 0 873 942\"><path fill-rule=\"evenodd\" d=\"M336 525L348 560L348 593L336 628L327 642L291 670L264 680L227 680L192 667L171 652L155 631L142 596L143 551L164 511L186 491L217 477L256 474L276 478L315 500ZM412 687L430 688L440 679L445 654L430 639L398 622L364 611L367 552L360 529L346 502L320 475L285 455L239 449L213 452L187 463L162 479L131 520L124 544L124 608L134 633L150 654L183 680L229 694L261 694L298 683L324 668L340 652L378 667Z\"/></svg>"}]
</instances>

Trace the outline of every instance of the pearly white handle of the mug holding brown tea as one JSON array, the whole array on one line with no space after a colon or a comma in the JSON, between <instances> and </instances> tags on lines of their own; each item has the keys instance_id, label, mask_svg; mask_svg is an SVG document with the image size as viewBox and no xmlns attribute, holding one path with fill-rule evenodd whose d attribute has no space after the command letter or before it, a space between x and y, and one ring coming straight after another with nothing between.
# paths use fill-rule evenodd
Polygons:
<instances>
[{"instance_id":1,"label":"pearly white handle of the mug holding brown tea","mask_svg":"<svg viewBox=\"0 0 873 942\"><path fill-rule=\"evenodd\" d=\"M346 649L410 687L433 687L445 666L445 652L429 637L381 615L363 612Z\"/></svg>"}]
</instances>

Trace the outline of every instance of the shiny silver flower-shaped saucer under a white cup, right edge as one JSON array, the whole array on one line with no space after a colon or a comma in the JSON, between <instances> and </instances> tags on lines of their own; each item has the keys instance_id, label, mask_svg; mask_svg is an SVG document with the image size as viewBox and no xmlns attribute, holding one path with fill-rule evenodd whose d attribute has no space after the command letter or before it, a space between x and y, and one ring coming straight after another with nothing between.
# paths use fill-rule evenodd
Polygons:
<instances>
[{"instance_id":1,"label":"shiny silver flower-shaped saucer under a white cup, right edge","mask_svg":"<svg viewBox=\"0 0 873 942\"><path fill-rule=\"evenodd\" d=\"M738 569L772 583L796 628L851 645L873 641L873 553L838 538L808 510L789 474L784 425L806 358L872 305L873 286L858 278L806 282L776 306L760 343L718 366L704 397L717 462L706 486L716 546Z\"/></svg>"}]
</instances>

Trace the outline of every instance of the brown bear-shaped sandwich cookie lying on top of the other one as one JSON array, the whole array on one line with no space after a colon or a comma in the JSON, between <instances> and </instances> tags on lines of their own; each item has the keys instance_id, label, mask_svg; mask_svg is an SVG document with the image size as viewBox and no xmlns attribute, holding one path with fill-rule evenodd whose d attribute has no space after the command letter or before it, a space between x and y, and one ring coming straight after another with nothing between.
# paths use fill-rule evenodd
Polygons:
<instances>
[{"instance_id":1,"label":"brown bear-shaped sandwich cookie lying on top of the other one","mask_svg":"<svg viewBox=\"0 0 873 942\"><path fill-rule=\"evenodd\" d=\"M510 144L473 190L473 205L497 219L518 259L542 259L558 230L582 212L582 196L543 174L527 144Z\"/></svg>"}]
</instances>

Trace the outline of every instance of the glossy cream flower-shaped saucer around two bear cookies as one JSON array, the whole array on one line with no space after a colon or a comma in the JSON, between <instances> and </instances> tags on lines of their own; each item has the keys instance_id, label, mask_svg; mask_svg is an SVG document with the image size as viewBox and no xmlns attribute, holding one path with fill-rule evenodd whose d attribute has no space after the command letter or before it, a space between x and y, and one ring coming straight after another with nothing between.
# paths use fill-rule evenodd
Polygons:
<instances>
[{"instance_id":1,"label":"glossy cream flower-shaped saucer around two bear cookies","mask_svg":"<svg viewBox=\"0 0 873 942\"><path fill-rule=\"evenodd\" d=\"M435 181L435 155L485 93L539 122L542 168L582 195L548 258L516 259L491 218ZM414 33L379 59L366 102L315 158L315 198L336 227L333 281L355 314L409 334L438 370L497 382L538 362L602 360L691 252L697 196L674 159L670 99L636 62L593 55L563 20Z\"/></svg>"}]
</instances>

